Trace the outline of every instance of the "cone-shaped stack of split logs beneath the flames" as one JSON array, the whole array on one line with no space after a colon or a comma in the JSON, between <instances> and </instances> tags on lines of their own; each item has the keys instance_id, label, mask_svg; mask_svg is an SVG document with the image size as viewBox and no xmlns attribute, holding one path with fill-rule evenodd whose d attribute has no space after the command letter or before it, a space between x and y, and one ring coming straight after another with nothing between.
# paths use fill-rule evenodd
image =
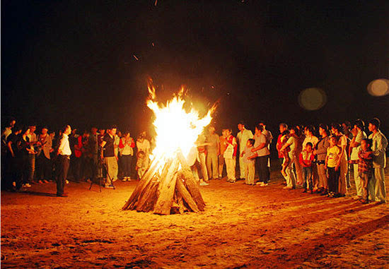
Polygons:
<instances>
[{"instance_id":1,"label":"cone-shaped stack of split logs beneath the flames","mask_svg":"<svg viewBox=\"0 0 389 269\"><path fill-rule=\"evenodd\" d=\"M204 200L182 153L158 172L161 160L153 160L123 209L159 215L204 211Z\"/></svg>"}]
</instances>

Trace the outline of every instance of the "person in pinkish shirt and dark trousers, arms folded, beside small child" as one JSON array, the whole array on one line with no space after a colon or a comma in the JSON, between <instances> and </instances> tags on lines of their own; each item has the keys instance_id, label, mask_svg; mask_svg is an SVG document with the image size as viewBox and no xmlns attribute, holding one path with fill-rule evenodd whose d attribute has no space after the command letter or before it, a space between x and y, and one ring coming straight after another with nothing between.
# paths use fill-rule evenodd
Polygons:
<instances>
[{"instance_id":1,"label":"person in pinkish shirt and dark trousers, arms folded, beside small child","mask_svg":"<svg viewBox=\"0 0 389 269\"><path fill-rule=\"evenodd\" d=\"M251 149L252 153L257 153L255 158L256 170L258 170L258 177L260 186L266 186L269 181L269 168L267 167L267 158L270 155L269 148L267 148L266 136L262 133L263 126L258 124L255 126L255 143Z\"/></svg>"}]
</instances>

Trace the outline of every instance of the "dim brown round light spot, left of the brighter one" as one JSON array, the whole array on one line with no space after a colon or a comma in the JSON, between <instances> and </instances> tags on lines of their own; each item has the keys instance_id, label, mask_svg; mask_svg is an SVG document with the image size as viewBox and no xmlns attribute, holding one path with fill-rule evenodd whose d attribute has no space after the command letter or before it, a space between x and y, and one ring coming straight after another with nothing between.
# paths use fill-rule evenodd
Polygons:
<instances>
[{"instance_id":1,"label":"dim brown round light spot, left of the brighter one","mask_svg":"<svg viewBox=\"0 0 389 269\"><path fill-rule=\"evenodd\" d=\"M327 102L325 91L320 88L304 89L298 95L298 104L306 110L318 110Z\"/></svg>"}]
</instances>

